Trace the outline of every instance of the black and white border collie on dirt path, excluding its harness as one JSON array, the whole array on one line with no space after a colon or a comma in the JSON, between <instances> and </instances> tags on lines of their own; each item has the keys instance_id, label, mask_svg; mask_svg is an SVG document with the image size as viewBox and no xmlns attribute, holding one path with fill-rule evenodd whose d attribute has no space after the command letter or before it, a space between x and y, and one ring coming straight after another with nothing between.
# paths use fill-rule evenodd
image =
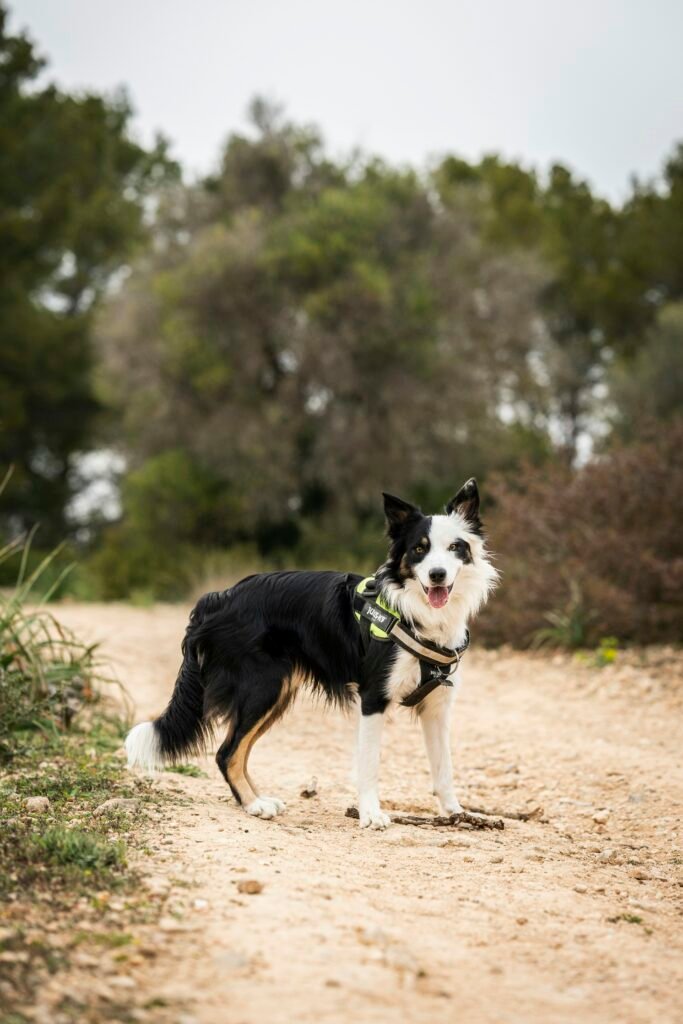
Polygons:
<instances>
[{"instance_id":1,"label":"black and white border collie on dirt path, excluding its harness","mask_svg":"<svg viewBox=\"0 0 683 1024\"><path fill-rule=\"evenodd\" d=\"M424 515L384 496L389 552L376 573L381 600L422 638L457 648L467 624L498 580L486 553L476 481L468 480L443 515ZM361 827L386 828L378 772L384 713L420 683L417 657L395 643L361 642L352 599L362 578L334 571L263 572L207 594L189 617L183 662L166 711L128 735L129 765L147 770L200 753L218 723L227 735L216 755L232 794L249 814L285 810L259 794L248 770L251 750L301 686L342 707L358 705L356 779ZM453 785L450 718L453 686L417 707L433 788L446 814L461 810Z\"/></svg>"}]
</instances>

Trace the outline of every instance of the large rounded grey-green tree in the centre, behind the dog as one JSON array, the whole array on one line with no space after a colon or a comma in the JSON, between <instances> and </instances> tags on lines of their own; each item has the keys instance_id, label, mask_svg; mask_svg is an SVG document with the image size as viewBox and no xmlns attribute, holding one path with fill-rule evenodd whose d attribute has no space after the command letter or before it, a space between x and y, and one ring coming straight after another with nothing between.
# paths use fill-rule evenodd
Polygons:
<instances>
[{"instance_id":1,"label":"large rounded grey-green tree in the centre, behind the dog","mask_svg":"<svg viewBox=\"0 0 683 1024\"><path fill-rule=\"evenodd\" d=\"M144 531L144 492L172 464L179 503L191 467L197 516L165 518L169 544L357 552L365 524L379 535L382 486L431 504L473 464L544 457L528 359L542 278L415 172L350 173L308 129L259 117L203 197L175 196L164 244L102 316L134 484L122 528Z\"/></svg>"}]
</instances>

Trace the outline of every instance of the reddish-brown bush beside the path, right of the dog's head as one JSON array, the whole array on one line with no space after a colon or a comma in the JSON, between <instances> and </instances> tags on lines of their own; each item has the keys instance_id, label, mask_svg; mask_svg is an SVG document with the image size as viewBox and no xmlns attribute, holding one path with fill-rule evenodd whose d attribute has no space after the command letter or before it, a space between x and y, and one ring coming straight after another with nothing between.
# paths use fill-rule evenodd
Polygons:
<instances>
[{"instance_id":1,"label":"reddish-brown bush beside the path, right of the dog's head","mask_svg":"<svg viewBox=\"0 0 683 1024\"><path fill-rule=\"evenodd\" d=\"M577 471L528 467L492 498L503 584L485 642L528 645L552 612L574 644L683 639L683 419Z\"/></svg>"}]
</instances>

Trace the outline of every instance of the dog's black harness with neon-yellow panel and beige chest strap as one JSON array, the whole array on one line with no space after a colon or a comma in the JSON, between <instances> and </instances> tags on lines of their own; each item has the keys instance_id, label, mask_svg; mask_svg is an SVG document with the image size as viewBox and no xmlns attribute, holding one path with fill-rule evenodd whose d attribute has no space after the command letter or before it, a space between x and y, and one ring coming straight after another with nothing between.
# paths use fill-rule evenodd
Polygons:
<instances>
[{"instance_id":1,"label":"dog's black harness with neon-yellow panel and beige chest strap","mask_svg":"<svg viewBox=\"0 0 683 1024\"><path fill-rule=\"evenodd\" d=\"M420 685L400 701L403 708L415 708L437 686L453 686L449 675L470 645L469 630L465 631L464 643L456 648L440 647L429 640L423 640L401 622L397 611L384 604L374 577L368 577L356 587L353 593L353 612L360 625L365 650L368 650L373 641L392 641L419 660Z\"/></svg>"}]
</instances>

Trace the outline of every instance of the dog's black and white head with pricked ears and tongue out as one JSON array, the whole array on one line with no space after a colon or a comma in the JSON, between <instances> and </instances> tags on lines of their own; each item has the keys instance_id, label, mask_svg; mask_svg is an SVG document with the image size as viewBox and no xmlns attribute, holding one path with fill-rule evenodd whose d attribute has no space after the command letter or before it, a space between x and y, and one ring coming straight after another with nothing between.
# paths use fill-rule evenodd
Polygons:
<instances>
[{"instance_id":1,"label":"dog's black and white head with pricked ears and tongue out","mask_svg":"<svg viewBox=\"0 0 683 1024\"><path fill-rule=\"evenodd\" d=\"M380 578L402 610L431 623L456 606L465 617L475 612L498 579L483 541L476 480L463 484L443 515L425 515L386 494L384 512L390 546Z\"/></svg>"}]
</instances>

